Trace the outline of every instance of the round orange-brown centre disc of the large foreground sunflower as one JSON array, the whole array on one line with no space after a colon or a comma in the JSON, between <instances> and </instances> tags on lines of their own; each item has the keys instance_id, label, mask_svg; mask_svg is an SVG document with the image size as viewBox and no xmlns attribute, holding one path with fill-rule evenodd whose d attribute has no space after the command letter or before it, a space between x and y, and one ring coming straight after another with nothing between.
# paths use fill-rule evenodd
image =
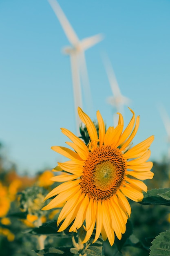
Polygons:
<instances>
[{"instance_id":1,"label":"round orange-brown centre disc of the large foreground sunflower","mask_svg":"<svg viewBox=\"0 0 170 256\"><path fill-rule=\"evenodd\" d=\"M126 160L119 148L102 146L89 152L81 177L82 192L102 201L114 195L124 181Z\"/></svg>"}]
</instances>

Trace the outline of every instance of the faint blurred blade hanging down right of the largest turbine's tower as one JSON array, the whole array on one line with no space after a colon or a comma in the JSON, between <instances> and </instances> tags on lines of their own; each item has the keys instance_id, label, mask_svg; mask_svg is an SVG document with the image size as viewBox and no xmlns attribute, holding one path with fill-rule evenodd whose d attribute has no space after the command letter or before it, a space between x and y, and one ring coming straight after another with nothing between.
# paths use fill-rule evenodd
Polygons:
<instances>
[{"instance_id":1,"label":"faint blurred blade hanging down right of the largest turbine's tower","mask_svg":"<svg viewBox=\"0 0 170 256\"><path fill-rule=\"evenodd\" d=\"M88 71L86 66L86 58L84 52L79 53L79 69L80 69L80 78L82 80L84 98L86 103L87 111L90 113L93 111L93 101L91 96L91 89L88 79Z\"/></svg>"}]
</instances>

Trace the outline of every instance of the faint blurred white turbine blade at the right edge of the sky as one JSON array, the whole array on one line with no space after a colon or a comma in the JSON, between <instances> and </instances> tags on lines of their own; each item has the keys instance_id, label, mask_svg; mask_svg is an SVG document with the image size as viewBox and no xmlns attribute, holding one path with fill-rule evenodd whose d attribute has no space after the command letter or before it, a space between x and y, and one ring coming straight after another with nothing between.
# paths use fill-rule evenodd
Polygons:
<instances>
[{"instance_id":1,"label":"faint blurred white turbine blade at the right edge of the sky","mask_svg":"<svg viewBox=\"0 0 170 256\"><path fill-rule=\"evenodd\" d=\"M167 133L166 141L168 143L168 158L170 159L170 117L163 106L159 106L159 112Z\"/></svg>"}]
</instances>

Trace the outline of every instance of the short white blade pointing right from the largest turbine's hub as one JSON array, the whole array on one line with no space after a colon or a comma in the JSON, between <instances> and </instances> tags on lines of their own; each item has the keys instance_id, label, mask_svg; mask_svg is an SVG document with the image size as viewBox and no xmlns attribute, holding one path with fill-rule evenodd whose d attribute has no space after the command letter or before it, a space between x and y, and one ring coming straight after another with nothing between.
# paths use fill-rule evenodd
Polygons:
<instances>
[{"instance_id":1,"label":"short white blade pointing right from the largest turbine's hub","mask_svg":"<svg viewBox=\"0 0 170 256\"><path fill-rule=\"evenodd\" d=\"M102 41L103 38L104 38L104 36L102 34L97 34L95 36L84 38L79 42L79 47L82 50L86 50L86 49L92 47L93 45L96 45L100 41Z\"/></svg>"}]
</instances>

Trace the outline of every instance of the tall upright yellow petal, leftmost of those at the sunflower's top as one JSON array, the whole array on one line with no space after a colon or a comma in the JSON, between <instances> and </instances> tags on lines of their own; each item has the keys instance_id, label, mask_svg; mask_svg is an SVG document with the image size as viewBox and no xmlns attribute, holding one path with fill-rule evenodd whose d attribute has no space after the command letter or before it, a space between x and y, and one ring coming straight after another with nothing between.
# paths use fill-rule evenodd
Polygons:
<instances>
[{"instance_id":1,"label":"tall upright yellow petal, leftmost of those at the sunflower's top","mask_svg":"<svg viewBox=\"0 0 170 256\"><path fill-rule=\"evenodd\" d=\"M86 115L81 108L78 108L78 114L80 119L82 120L82 122L85 124L87 128L88 135L90 136L91 140L92 141L97 140L98 139L97 130L95 128L95 125L91 121L90 117L88 117L88 115Z\"/></svg>"}]
</instances>

